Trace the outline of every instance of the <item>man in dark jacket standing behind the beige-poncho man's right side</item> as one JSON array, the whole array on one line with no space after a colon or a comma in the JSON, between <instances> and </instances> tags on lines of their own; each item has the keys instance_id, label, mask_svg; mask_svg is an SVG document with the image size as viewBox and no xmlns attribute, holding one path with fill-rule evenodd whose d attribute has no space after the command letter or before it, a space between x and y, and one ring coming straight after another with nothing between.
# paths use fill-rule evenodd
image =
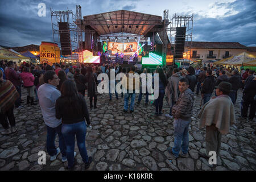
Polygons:
<instances>
[{"instance_id":1,"label":"man in dark jacket standing behind the beige-poncho man's right side","mask_svg":"<svg viewBox=\"0 0 256 182\"><path fill-rule=\"evenodd\" d=\"M234 69L233 75L229 78L228 82L232 84L232 89L229 93L229 97L231 98L233 104L235 105L237 100L237 90L240 89L242 86L242 78L239 75L237 69Z\"/></svg>"}]
</instances>

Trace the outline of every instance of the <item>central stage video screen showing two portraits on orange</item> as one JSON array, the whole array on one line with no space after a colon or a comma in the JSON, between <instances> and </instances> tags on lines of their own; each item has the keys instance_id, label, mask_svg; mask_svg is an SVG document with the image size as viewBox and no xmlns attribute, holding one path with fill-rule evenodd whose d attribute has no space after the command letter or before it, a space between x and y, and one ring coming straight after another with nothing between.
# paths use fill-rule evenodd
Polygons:
<instances>
[{"instance_id":1,"label":"central stage video screen showing two portraits on orange","mask_svg":"<svg viewBox=\"0 0 256 182\"><path fill-rule=\"evenodd\" d=\"M108 50L112 51L112 54L123 52L124 55L133 55L137 51L137 42L130 43L118 43L118 42L108 42Z\"/></svg>"}]
</instances>

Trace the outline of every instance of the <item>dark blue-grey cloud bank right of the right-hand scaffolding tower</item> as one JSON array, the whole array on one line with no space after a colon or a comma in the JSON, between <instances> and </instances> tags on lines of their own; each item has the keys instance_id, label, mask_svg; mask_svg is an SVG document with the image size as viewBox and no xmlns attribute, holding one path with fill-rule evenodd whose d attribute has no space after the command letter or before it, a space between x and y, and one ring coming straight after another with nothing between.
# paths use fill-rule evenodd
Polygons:
<instances>
[{"instance_id":1,"label":"dark blue-grey cloud bank right of the right-hand scaffolding tower","mask_svg":"<svg viewBox=\"0 0 256 182\"><path fill-rule=\"evenodd\" d=\"M200 14L195 14L194 41L239 42L245 46L256 43L255 1L239 0L232 3L216 3L216 6L242 11L224 18L202 18ZM226 14L232 14L230 11Z\"/></svg>"}]
</instances>

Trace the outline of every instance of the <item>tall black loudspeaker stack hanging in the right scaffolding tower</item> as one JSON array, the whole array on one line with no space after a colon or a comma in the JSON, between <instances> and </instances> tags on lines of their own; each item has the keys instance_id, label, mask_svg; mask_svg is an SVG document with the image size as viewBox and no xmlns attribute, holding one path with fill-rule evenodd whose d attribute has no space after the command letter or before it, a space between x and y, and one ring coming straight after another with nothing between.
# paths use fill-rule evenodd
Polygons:
<instances>
[{"instance_id":1,"label":"tall black loudspeaker stack hanging in the right scaffolding tower","mask_svg":"<svg viewBox=\"0 0 256 182\"><path fill-rule=\"evenodd\" d=\"M185 46L186 27L176 27L175 35L175 59L183 59Z\"/></svg>"}]
</instances>

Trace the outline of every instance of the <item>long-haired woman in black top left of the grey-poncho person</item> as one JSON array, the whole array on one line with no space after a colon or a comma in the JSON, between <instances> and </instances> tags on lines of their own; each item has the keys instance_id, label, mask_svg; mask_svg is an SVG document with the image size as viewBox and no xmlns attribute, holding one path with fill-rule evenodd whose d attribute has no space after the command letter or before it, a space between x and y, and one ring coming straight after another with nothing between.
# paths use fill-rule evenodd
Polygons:
<instances>
[{"instance_id":1,"label":"long-haired woman in black top left of the grey-poncho person","mask_svg":"<svg viewBox=\"0 0 256 182\"><path fill-rule=\"evenodd\" d=\"M158 89L159 95L158 98L155 100L155 115L160 115L162 114L161 111L163 108L164 89L166 89L167 80L162 68L157 68L156 73L159 74L159 84L158 88L155 89Z\"/></svg>"}]
</instances>

